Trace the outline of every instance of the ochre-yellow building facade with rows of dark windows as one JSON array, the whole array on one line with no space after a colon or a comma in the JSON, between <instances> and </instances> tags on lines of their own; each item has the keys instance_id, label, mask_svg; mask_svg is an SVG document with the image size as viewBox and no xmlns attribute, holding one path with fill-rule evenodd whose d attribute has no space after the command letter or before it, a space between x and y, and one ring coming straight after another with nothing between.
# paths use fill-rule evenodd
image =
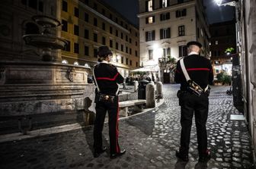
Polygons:
<instances>
[{"instance_id":1,"label":"ochre-yellow building facade with rows of dark windows","mask_svg":"<svg viewBox=\"0 0 256 169\"><path fill-rule=\"evenodd\" d=\"M68 41L62 61L91 67L97 51L107 45L113 52L113 64L127 77L139 67L139 30L102 1L58 0L61 37Z\"/></svg>"}]
</instances>

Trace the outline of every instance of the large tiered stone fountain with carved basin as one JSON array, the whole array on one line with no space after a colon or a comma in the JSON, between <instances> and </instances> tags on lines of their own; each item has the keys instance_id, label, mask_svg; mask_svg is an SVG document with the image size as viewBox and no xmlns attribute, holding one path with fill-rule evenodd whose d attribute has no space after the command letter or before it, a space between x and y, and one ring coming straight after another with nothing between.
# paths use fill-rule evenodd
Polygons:
<instances>
[{"instance_id":1,"label":"large tiered stone fountain with carved basin","mask_svg":"<svg viewBox=\"0 0 256 169\"><path fill-rule=\"evenodd\" d=\"M4 132L2 126L8 126L5 123L21 122L22 117L32 119L34 128L35 124L40 128L40 124L81 121L88 110L85 98L93 97L94 86L87 82L89 68L62 64L52 55L53 50L66 45L64 39L50 33L51 28L61 25L59 20L42 15L32 19L43 32L24 35L23 39L41 49L43 61L0 61L0 118L6 119L0 124L0 133Z\"/></svg>"}]
</instances>

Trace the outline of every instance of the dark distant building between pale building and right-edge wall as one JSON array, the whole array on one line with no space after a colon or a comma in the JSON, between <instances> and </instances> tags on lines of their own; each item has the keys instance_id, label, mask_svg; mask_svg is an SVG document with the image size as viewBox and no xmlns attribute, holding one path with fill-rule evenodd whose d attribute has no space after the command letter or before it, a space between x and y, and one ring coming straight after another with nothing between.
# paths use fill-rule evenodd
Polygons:
<instances>
[{"instance_id":1,"label":"dark distant building between pale building and right-edge wall","mask_svg":"<svg viewBox=\"0 0 256 169\"><path fill-rule=\"evenodd\" d=\"M210 25L210 59L213 64L213 74L226 71L232 74L232 57L236 53L235 20ZM234 49L226 52L226 49Z\"/></svg>"}]
</instances>

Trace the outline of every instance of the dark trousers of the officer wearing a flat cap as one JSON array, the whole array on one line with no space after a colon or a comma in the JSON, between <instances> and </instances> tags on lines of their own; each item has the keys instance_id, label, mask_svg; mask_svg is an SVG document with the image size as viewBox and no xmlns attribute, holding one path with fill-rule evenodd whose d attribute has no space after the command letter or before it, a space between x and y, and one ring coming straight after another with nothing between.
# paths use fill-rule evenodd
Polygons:
<instances>
[{"instance_id":1,"label":"dark trousers of the officer wearing a flat cap","mask_svg":"<svg viewBox=\"0 0 256 169\"><path fill-rule=\"evenodd\" d=\"M180 96L181 105L181 147L180 152L187 155L190 143L190 130L195 114L197 127L197 143L199 155L206 153L207 133L206 120L208 117L209 99L203 93L198 97L190 92L184 92Z\"/></svg>"}]
</instances>

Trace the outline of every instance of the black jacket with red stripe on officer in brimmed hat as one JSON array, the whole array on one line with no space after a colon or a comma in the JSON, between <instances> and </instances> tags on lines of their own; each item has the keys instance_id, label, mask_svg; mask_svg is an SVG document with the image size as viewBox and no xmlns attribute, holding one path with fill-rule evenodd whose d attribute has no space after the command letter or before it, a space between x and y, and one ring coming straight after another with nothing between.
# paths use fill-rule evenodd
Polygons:
<instances>
[{"instance_id":1,"label":"black jacket with red stripe on officer in brimmed hat","mask_svg":"<svg viewBox=\"0 0 256 169\"><path fill-rule=\"evenodd\" d=\"M113 64L100 63L94 67L94 76L97 80L101 93L116 95L118 85L123 83L123 77Z\"/></svg>"}]
</instances>

